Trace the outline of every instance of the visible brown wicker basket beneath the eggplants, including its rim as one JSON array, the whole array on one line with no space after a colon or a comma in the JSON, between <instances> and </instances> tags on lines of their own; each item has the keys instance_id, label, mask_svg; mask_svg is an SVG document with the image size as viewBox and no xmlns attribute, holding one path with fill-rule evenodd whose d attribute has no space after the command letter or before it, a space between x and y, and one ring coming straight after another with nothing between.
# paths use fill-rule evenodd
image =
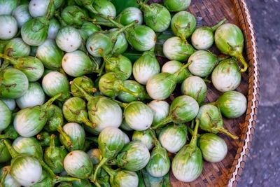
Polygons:
<instances>
[{"instance_id":1,"label":"visible brown wicker basket beneath the eggplants, including its rim","mask_svg":"<svg viewBox=\"0 0 280 187\"><path fill-rule=\"evenodd\" d=\"M153 0L153 2L161 1ZM248 106L246 115L237 119L224 119L225 128L239 137L239 140L232 140L220 134L228 144L228 155L225 159L218 163L204 162L202 175L192 183L177 181L171 174L172 186L237 186L251 148L258 113L259 67L253 23L245 0L193 0L188 11L202 17L203 25L215 25L223 18L227 18L228 22L235 23L242 29L245 37L244 57L250 67L242 74L241 85L237 91L247 96ZM215 48L211 50L217 52ZM164 63L162 58L159 60L161 64ZM214 102L221 92L211 84L207 86L209 88L207 99Z\"/></svg>"}]
</instances>

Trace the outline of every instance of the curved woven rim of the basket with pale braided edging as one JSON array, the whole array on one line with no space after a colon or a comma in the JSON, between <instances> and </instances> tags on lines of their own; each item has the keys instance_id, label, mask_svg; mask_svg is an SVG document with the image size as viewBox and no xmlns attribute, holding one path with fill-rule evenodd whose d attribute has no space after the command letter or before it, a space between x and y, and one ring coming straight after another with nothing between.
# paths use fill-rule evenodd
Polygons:
<instances>
[{"instance_id":1,"label":"curved woven rim of the basket with pale braided edging","mask_svg":"<svg viewBox=\"0 0 280 187\"><path fill-rule=\"evenodd\" d=\"M244 169L244 165L246 162L246 158L248 157L248 153L251 149L251 142L253 139L253 133L255 129L255 124L256 124L256 116L258 114L258 103L259 103L259 83L260 83L260 78L259 78L259 64L258 64L258 48L257 48L257 43L256 43L256 37L255 37L255 32L253 28L253 22L251 20L251 15L250 12L248 11L248 6L246 4L246 0L234 0L235 5L239 10L241 11L241 15L239 15L239 20L246 20L244 25L242 25L242 29L246 32L249 32L251 36L251 48L253 49L253 64L251 64L251 67L249 71L253 72L253 82L249 83L252 84L253 86L249 89L253 89L252 91L252 99L248 100L248 106L247 106L247 113L246 113L246 127L248 129L246 130L246 139L242 141L244 144L241 147L241 151L235 156L235 161L237 161L237 164L232 165L232 168L230 169L229 177L227 180L227 183L225 183L225 186L237 186L237 183L240 179L241 173ZM245 36L246 39L246 36ZM248 50L248 48L246 49ZM248 54L248 51L247 51ZM248 119L247 119L248 117ZM234 161L234 163L235 163Z\"/></svg>"}]
</instances>

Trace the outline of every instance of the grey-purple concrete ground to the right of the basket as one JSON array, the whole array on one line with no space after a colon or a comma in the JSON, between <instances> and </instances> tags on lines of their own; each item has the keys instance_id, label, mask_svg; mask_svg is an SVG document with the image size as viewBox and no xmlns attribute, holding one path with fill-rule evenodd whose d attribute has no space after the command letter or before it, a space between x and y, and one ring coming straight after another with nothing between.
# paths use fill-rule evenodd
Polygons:
<instances>
[{"instance_id":1,"label":"grey-purple concrete ground to the right of the basket","mask_svg":"<svg viewBox=\"0 0 280 187\"><path fill-rule=\"evenodd\" d=\"M239 186L280 182L280 1L247 0L258 39L260 107L253 146Z\"/></svg>"}]
</instances>

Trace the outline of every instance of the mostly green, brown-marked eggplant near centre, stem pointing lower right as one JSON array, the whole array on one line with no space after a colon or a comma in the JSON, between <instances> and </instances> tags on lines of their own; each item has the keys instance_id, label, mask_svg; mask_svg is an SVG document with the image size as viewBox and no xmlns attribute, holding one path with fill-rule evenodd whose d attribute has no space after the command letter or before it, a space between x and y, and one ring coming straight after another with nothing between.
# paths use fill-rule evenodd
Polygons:
<instances>
[{"instance_id":1,"label":"mostly green, brown-marked eggplant near centre, stem pointing lower right","mask_svg":"<svg viewBox=\"0 0 280 187\"><path fill-rule=\"evenodd\" d=\"M125 88L124 81L122 76L119 76L116 73L109 72L104 74L99 80L99 90L102 94L107 97L116 97L120 95L120 92L127 92L134 97L139 97L137 92L132 92L129 89Z\"/></svg>"}]
</instances>

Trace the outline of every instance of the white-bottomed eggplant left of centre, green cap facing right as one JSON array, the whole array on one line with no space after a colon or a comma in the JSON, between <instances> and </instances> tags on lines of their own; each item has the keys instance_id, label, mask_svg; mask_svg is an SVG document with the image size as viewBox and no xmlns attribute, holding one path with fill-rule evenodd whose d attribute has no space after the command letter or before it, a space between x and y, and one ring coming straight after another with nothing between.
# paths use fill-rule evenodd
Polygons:
<instances>
[{"instance_id":1,"label":"white-bottomed eggplant left of centre, green cap facing right","mask_svg":"<svg viewBox=\"0 0 280 187\"><path fill-rule=\"evenodd\" d=\"M77 77L97 72L98 64L94 64L83 51L76 50L64 55L62 68L69 76Z\"/></svg>"}]
</instances>

